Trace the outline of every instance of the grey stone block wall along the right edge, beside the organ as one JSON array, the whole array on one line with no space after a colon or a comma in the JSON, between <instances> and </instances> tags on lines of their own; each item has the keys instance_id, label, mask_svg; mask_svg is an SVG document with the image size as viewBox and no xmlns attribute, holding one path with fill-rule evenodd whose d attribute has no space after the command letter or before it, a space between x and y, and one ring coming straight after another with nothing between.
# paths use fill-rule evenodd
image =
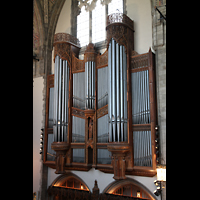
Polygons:
<instances>
[{"instance_id":1,"label":"grey stone block wall along the right edge, beside the organ","mask_svg":"<svg viewBox=\"0 0 200 200\"><path fill-rule=\"evenodd\" d=\"M160 133L160 164L166 165L166 20L155 10L166 16L166 1L154 1L152 6L153 50L156 54L157 111ZM160 5L160 6L159 6ZM159 196L160 197L160 196ZM162 184L162 199L166 200L166 182Z\"/></svg>"}]
</instances>

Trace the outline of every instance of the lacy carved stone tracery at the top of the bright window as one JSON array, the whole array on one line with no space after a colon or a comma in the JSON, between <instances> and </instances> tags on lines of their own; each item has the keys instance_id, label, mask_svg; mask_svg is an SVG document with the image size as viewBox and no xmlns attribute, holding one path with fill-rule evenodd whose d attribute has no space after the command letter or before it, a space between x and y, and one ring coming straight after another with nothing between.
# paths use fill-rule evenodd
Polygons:
<instances>
[{"instance_id":1,"label":"lacy carved stone tracery at the top of the bright window","mask_svg":"<svg viewBox=\"0 0 200 200\"><path fill-rule=\"evenodd\" d=\"M83 6L85 6L85 10L88 11L92 11L95 7L96 7L96 2L97 0L78 0L79 4L78 7L82 8ZM112 0L100 0L101 4L107 5L109 4Z\"/></svg>"}]
</instances>

